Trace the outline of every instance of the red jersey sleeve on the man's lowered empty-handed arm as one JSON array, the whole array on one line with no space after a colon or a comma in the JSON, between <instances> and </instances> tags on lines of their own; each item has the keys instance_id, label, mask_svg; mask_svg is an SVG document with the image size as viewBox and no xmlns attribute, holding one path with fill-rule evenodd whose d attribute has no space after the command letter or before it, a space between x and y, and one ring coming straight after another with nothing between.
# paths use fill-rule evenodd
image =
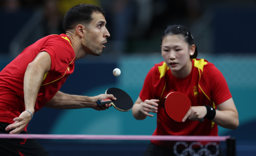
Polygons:
<instances>
[{"instance_id":1,"label":"red jersey sleeve on the man's lowered empty-handed arm","mask_svg":"<svg viewBox=\"0 0 256 156\"><path fill-rule=\"evenodd\" d=\"M60 37L51 37L40 49L46 51L51 57L51 71L63 72L74 59L74 51L69 42ZM65 67L65 68L64 68Z\"/></svg>"}]
</instances>

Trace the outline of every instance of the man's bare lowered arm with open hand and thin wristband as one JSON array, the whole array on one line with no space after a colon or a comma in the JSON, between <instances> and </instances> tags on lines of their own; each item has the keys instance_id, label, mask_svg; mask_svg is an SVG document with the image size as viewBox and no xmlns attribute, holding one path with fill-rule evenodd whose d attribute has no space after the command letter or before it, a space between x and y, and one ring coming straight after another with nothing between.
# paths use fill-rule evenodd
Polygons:
<instances>
[{"instance_id":1,"label":"man's bare lowered arm with open hand and thin wristband","mask_svg":"<svg viewBox=\"0 0 256 156\"><path fill-rule=\"evenodd\" d=\"M51 58L47 52L40 52L37 57L28 64L24 75L24 102L25 110L34 114L34 106L36 104L39 88L43 81L43 76L51 68ZM14 118L13 124L5 128L6 131L12 130L10 133L20 133L31 120L31 114L24 111L19 117Z\"/></svg>"}]
</instances>

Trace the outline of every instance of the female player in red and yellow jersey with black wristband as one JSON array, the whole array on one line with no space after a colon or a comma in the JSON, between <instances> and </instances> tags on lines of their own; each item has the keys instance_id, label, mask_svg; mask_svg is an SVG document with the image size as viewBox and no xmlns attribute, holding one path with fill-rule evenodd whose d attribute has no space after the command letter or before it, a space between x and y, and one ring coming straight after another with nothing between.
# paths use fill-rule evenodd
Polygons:
<instances>
[{"instance_id":1,"label":"female player in red and yellow jersey with black wristband","mask_svg":"<svg viewBox=\"0 0 256 156\"><path fill-rule=\"evenodd\" d=\"M196 59L196 45L188 28L168 26L161 38L161 53L164 61L146 75L132 109L134 118L143 120L156 113L153 135L217 136L217 125L236 129L238 112L226 80L212 63ZM164 111L164 98L173 91L184 93L192 103L182 122L173 121ZM170 155L168 148L164 141L151 141L145 155Z\"/></svg>"}]
</instances>

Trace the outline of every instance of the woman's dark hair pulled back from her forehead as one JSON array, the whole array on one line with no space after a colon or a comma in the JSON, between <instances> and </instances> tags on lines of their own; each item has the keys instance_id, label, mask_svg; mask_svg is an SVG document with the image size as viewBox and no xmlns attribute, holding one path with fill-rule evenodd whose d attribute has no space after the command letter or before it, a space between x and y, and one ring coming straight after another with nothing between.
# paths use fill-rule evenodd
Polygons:
<instances>
[{"instance_id":1,"label":"woman's dark hair pulled back from her forehead","mask_svg":"<svg viewBox=\"0 0 256 156\"><path fill-rule=\"evenodd\" d=\"M162 44L163 38L167 35L182 35L184 37L184 40L188 43L188 45L193 45L193 44L195 45L194 39L190 31L185 26L182 26L182 25L168 26L161 37L161 44ZM197 47L195 45L194 55L190 56L190 59L194 59L196 57L197 57Z\"/></svg>"}]
</instances>

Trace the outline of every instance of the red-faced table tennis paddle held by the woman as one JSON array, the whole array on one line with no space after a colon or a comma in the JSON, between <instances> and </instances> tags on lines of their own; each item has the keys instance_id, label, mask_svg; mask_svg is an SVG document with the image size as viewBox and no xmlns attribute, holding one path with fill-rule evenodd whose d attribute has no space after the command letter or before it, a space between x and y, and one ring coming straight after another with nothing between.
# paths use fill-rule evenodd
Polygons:
<instances>
[{"instance_id":1,"label":"red-faced table tennis paddle held by the woman","mask_svg":"<svg viewBox=\"0 0 256 156\"><path fill-rule=\"evenodd\" d=\"M164 111L166 115L174 121L182 122L182 119L191 107L190 99L181 92L169 93L164 101ZM199 120L204 121L204 118Z\"/></svg>"}]
</instances>

